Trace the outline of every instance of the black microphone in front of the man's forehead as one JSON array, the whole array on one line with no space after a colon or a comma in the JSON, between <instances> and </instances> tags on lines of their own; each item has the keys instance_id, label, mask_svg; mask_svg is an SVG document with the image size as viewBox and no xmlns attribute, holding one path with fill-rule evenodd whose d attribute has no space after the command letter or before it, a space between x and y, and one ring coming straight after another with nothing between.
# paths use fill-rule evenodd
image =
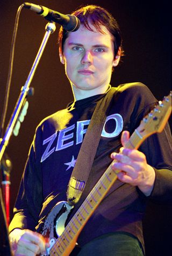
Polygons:
<instances>
[{"instance_id":1,"label":"black microphone in front of the man's forehead","mask_svg":"<svg viewBox=\"0 0 172 256\"><path fill-rule=\"evenodd\" d=\"M68 32L76 31L80 27L80 20L74 15L64 15L45 6L32 3L24 3L24 7L37 12L37 14L49 20L49 22L59 23Z\"/></svg>"}]
</instances>

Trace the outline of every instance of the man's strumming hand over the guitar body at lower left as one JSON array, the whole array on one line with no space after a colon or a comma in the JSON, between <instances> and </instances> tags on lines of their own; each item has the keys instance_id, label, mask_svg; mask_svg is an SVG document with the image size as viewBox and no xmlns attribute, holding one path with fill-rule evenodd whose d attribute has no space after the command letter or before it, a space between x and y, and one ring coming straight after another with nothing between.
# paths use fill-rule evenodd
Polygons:
<instances>
[{"instance_id":1,"label":"man's strumming hand over the guitar body at lower left","mask_svg":"<svg viewBox=\"0 0 172 256\"><path fill-rule=\"evenodd\" d=\"M14 229L9 234L11 250L14 256L35 256L46 254L46 244L41 234L28 229Z\"/></svg>"}]
</instances>

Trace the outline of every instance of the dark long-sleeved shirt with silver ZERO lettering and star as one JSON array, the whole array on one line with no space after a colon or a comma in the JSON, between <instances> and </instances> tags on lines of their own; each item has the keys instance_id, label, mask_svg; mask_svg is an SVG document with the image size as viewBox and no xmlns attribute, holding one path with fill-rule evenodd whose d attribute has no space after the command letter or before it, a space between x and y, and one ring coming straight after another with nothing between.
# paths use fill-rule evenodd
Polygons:
<instances>
[{"instance_id":1,"label":"dark long-sleeved shirt with silver ZERO lettering and star","mask_svg":"<svg viewBox=\"0 0 172 256\"><path fill-rule=\"evenodd\" d=\"M96 103L104 95L76 101L39 124L21 180L10 230L19 227L40 232L53 206L57 202L67 201L68 182L84 134ZM119 151L121 132L128 130L132 134L155 104L156 99L144 84L130 83L117 88L89 179L74 212L110 165L110 154ZM139 148L156 172L155 186L149 198L162 202L168 202L172 197L172 193L168 193L172 191L172 176L168 170L171 160L169 134L166 126L161 134L147 138ZM117 180L85 225L78 237L78 244L82 246L104 233L124 231L133 234L144 246L141 220L146 199L137 187Z\"/></svg>"}]
</instances>

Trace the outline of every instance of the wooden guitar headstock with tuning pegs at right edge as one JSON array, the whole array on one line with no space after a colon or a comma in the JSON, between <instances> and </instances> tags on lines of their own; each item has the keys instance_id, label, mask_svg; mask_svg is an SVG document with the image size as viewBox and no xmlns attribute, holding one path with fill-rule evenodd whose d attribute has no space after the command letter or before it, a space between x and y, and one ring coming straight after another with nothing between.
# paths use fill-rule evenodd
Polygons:
<instances>
[{"instance_id":1,"label":"wooden guitar headstock with tuning pegs at right edge","mask_svg":"<svg viewBox=\"0 0 172 256\"><path fill-rule=\"evenodd\" d=\"M153 133L162 132L171 114L171 92L148 113L141 121L137 131L141 137L148 137Z\"/></svg>"}]
</instances>

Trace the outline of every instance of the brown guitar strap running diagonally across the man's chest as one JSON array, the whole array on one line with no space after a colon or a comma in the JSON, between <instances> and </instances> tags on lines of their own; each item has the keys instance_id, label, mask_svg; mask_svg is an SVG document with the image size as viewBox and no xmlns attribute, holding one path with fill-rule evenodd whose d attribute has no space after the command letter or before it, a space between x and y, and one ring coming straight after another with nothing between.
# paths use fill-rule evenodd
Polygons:
<instances>
[{"instance_id":1,"label":"brown guitar strap running diagonally across the man's chest","mask_svg":"<svg viewBox=\"0 0 172 256\"><path fill-rule=\"evenodd\" d=\"M106 95L98 101L92 114L68 183L67 199L70 205L74 205L80 200L96 155L105 119L109 113L112 98L116 92L117 89L113 87L107 90Z\"/></svg>"}]
</instances>

